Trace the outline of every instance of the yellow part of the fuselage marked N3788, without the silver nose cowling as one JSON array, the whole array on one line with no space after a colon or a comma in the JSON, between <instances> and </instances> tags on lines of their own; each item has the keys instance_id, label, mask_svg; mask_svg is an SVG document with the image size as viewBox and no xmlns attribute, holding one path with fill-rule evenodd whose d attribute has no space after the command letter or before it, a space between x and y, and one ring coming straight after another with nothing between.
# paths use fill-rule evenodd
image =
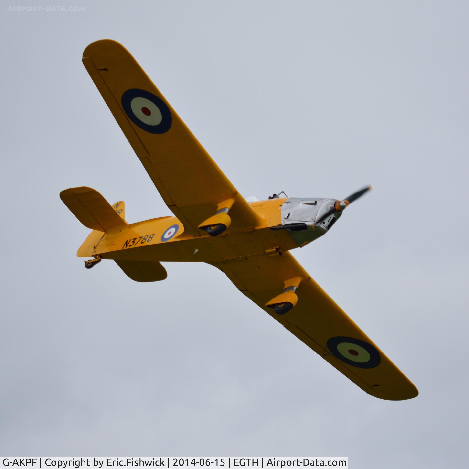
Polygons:
<instances>
[{"instance_id":1,"label":"yellow part of the fuselage marked N3788, without the silver nose cowling","mask_svg":"<svg viewBox=\"0 0 469 469\"><path fill-rule=\"evenodd\" d=\"M125 233L109 236L92 231L78 257L100 256L103 259L162 261L162 262L220 262L227 259L265 254L278 247L281 251L299 245L287 230L271 230L281 222L280 209L286 198L252 202L261 223L253 230L226 233L212 237L208 234L184 234L184 227L176 217L161 217L129 225ZM177 226L176 235L165 240L170 227ZM137 249L139 248L139 249Z\"/></svg>"}]
</instances>

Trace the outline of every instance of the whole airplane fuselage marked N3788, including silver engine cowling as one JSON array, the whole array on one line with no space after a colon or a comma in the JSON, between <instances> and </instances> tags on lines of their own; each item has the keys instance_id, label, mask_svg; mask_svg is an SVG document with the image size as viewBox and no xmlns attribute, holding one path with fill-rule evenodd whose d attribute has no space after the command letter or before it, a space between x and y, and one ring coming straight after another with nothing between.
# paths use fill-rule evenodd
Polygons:
<instances>
[{"instance_id":1,"label":"whole airplane fuselage marked N3788, including silver engine cowling","mask_svg":"<svg viewBox=\"0 0 469 469\"><path fill-rule=\"evenodd\" d=\"M249 231L228 229L216 237L202 233L200 236L185 235L184 226L176 217L145 220L129 224L125 233L113 236L91 232L77 255L115 260L208 263L266 252L281 255L283 251L303 247L325 234L335 218L320 225L315 220L334 202L335 199L323 198L273 198L250 202L259 216L258 225Z\"/></svg>"}]
</instances>

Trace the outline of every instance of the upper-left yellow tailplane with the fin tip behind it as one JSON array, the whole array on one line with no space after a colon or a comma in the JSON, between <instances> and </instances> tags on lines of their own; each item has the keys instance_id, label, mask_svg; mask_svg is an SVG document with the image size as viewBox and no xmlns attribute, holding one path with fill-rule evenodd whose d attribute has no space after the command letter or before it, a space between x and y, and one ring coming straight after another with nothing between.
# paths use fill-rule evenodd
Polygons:
<instances>
[{"instance_id":1,"label":"upper-left yellow tailplane with the fin tip behind it","mask_svg":"<svg viewBox=\"0 0 469 469\"><path fill-rule=\"evenodd\" d=\"M62 190L62 202L67 205L70 212L88 228L105 232L109 236L125 233L129 225L124 221L124 203L117 202L116 208L90 187L74 187ZM122 212L118 211L122 208Z\"/></svg>"}]
</instances>

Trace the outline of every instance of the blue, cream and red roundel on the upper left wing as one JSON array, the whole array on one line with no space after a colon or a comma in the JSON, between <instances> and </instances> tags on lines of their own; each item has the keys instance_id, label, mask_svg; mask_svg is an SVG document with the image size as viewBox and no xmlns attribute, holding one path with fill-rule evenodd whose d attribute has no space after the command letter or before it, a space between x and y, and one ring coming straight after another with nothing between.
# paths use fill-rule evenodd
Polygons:
<instances>
[{"instance_id":1,"label":"blue, cream and red roundel on the upper left wing","mask_svg":"<svg viewBox=\"0 0 469 469\"><path fill-rule=\"evenodd\" d=\"M168 106L149 91L132 88L124 92L121 101L129 119L140 129L152 134L164 134L171 127Z\"/></svg>"}]
</instances>

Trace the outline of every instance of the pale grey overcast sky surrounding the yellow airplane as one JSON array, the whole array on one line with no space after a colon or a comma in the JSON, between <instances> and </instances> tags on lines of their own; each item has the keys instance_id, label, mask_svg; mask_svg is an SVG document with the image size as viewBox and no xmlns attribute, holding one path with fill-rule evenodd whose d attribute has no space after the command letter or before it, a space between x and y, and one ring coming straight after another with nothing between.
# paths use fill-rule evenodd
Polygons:
<instances>
[{"instance_id":1,"label":"pale grey overcast sky surrounding the yellow airplane","mask_svg":"<svg viewBox=\"0 0 469 469\"><path fill-rule=\"evenodd\" d=\"M62 5L86 11L0 14L0 454L467 463L468 2ZM364 393L210 265L150 284L84 269L62 189L172 215L82 65L102 38L243 196L373 185L293 254L416 399Z\"/></svg>"}]
</instances>

